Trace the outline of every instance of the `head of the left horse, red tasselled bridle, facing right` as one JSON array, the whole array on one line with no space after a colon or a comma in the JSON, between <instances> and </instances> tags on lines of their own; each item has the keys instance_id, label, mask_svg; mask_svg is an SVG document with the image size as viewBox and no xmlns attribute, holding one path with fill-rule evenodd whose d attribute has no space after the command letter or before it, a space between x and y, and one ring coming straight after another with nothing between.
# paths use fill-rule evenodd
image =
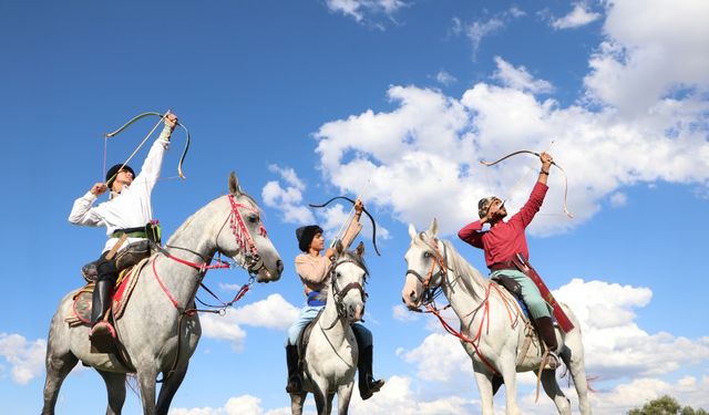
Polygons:
<instances>
[{"instance_id":1,"label":"head of the left horse, red tasselled bridle, facing right","mask_svg":"<svg viewBox=\"0 0 709 415\"><path fill-rule=\"evenodd\" d=\"M277 281L284 270L284 261L268 239L260 208L242 190L234 172L229 175L226 199L230 212L217 236L218 250L256 276L256 281Z\"/></svg>"}]
</instances>

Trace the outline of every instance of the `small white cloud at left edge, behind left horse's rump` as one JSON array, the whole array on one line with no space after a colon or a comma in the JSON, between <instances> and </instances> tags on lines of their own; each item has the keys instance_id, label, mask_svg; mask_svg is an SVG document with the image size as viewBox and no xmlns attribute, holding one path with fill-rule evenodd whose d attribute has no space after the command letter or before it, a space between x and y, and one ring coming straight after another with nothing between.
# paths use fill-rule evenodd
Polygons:
<instances>
[{"instance_id":1,"label":"small white cloud at left edge, behind left horse's rump","mask_svg":"<svg viewBox=\"0 0 709 415\"><path fill-rule=\"evenodd\" d=\"M28 341L20 334L0 333L0 356L10 364L12 381L25 385L44 372L47 341Z\"/></svg>"}]
</instances>

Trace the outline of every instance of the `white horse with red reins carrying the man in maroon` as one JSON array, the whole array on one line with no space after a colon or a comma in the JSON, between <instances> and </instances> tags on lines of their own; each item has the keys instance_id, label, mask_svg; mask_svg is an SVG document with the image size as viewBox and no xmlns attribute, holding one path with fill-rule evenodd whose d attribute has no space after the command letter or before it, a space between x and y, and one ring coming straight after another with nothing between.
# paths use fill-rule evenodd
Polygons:
<instances>
[{"instance_id":1,"label":"white horse with red reins carrying the man in maroon","mask_svg":"<svg viewBox=\"0 0 709 415\"><path fill-rule=\"evenodd\" d=\"M538 371L543 356L540 342L533 341L526 354L520 355L524 353L526 326L520 321L516 301L504 289L491 287L489 280L471 267L450 242L438 239L436 234L435 219L421 234L417 234L413 225L409 226L411 246L404 256L409 269L402 291L403 301L409 309L418 310L430 303L435 291L442 289L461 322L461 334L465 336L461 344L473 362L483 415L494 413L493 395L500 386L500 376L506 391L506 414L520 414L516 372ZM590 414L590 405L580 329L571 309L563 307L575 329L566 334L557 331L559 355L571 371L580 413L586 415ZM556 404L558 413L571 414L571 404L556 382L555 372L543 370L541 376L544 391Z\"/></svg>"}]
</instances>

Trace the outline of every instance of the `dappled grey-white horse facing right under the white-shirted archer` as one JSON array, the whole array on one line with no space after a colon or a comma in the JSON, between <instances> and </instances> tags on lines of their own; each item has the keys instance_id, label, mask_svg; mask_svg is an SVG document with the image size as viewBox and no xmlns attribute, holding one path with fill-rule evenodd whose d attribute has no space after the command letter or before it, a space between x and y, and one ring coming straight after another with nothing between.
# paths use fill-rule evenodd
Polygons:
<instances>
[{"instance_id":1,"label":"dappled grey-white horse facing right under the white-shirted archer","mask_svg":"<svg viewBox=\"0 0 709 415\"><path fill-rule=\"evenodd\" d=\"M202 334L194 299L208 264L220 252L236 261L256 281L280 278L282 261L267 238L256 201L243 193L234 173L229 195L222 196L192 215L167 241L167 251L156 253L142 269L133 295L115 330L124 359L91 353L88 325L70 328L64 318L72 308L70 292L51 322L47 344L47 381L42 414L53 414L59 390L81 361L103 377L109 394L106 414L120 414L125 401L125 377L136 373L143 413L167 414L187 364ZM158 373L164 383L155 403Z\"/></svg>"}]
</instances>

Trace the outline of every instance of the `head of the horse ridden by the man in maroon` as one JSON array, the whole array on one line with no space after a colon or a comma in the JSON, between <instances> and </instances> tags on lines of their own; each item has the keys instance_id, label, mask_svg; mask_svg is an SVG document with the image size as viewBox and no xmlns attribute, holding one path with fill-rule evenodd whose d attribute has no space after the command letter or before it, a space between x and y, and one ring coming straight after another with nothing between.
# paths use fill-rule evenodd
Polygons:
<instances>
[{"instance_id":1,"label":"head of the horse ridden by the man in maroon","mask_svg":"<svg viewBox=\"0 0 709 415\"><path fill-rule=\"evenodd\" d=\"M431 302L444 281L448 268L443 253L445 246L436 237L438 229L435 218L431 227L420 234L409 225L411 245L404 255L407 276L401 299L410 310L419 311L422 304Z\"/></svg>"}]
</instances>

